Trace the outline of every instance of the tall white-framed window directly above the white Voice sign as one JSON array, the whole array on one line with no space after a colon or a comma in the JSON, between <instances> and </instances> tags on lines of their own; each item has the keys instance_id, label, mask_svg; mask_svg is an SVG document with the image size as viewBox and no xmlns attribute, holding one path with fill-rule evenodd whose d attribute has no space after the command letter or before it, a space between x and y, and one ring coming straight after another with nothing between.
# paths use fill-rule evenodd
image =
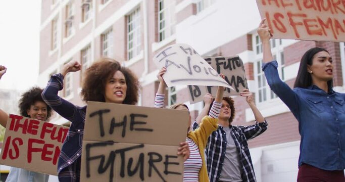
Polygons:
<instances>
[{"instance_id":1,"label":"tall white-framed window directly above the white Voice sign","mask_svg":"<svg viewBox=\"0 0 345 182\"><path fill-rule=\"evenodd\" d=\"M158 41L175 33L175 0L158 0Z\"/></svg>"}]
</instances>

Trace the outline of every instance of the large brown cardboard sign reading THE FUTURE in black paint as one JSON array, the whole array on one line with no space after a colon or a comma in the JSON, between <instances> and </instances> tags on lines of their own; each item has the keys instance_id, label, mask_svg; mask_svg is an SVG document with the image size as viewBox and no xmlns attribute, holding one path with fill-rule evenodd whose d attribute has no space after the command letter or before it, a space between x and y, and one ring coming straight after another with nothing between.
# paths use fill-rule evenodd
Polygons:
<instances>
[{"instance_id":1,"label":"large brown cardboard sign reading THE FUTURE in black paint","mask_svg":"<svg viewBox=\"0 0 345 182\"><path fill-rule=\"evenodd\" d=\"M182 181L186 111L88 102L81 181Z\"/></svg>"}]
</instances>

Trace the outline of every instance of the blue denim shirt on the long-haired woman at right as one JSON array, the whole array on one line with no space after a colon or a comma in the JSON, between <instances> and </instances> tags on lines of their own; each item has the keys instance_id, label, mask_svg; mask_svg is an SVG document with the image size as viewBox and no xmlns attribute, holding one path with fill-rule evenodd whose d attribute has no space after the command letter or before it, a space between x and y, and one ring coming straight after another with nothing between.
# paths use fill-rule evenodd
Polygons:
<instances>
[{"instance_id":1,"label":"blue denim shirt on the long-haired woman at right","mask_svg":"<svg viewBox=\"0 0 345 182\"><path fill-rule=\"evenodd\" d=\"M299 166L303 163L324 170L345 169L345 94L326 93L316 85L291 89L281 81L278 63L262 66L268 85L299 121Z\"/></svg>"}]
</instances>

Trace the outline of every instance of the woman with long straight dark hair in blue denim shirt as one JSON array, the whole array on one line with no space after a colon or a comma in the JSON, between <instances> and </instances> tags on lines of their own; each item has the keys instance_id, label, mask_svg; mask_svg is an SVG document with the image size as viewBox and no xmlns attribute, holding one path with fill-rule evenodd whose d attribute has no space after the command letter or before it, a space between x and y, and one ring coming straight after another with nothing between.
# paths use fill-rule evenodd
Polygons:
<instances>
[{"instance_id":1,"label":"woman with long straight dark hair in blue denim shirt","mask_svg":"<svg viewBox=\"0 0 345 182\"><path fill-rule=\"evenodd\" d=\"M268 85L299 121L297 181L345 181L345 95L333 90L332 57L322 48L308 50L291 89L279 78L266 19L261 21L258 34Z\"/></svg>"}]
</instances>

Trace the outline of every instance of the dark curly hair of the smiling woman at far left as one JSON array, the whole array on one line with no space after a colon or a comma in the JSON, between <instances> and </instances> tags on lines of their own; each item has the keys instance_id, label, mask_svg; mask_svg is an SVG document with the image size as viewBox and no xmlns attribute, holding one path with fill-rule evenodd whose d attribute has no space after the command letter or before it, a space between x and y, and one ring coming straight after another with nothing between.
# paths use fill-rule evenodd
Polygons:
<instances>
[{"instance_id":1,"label":"dark curly hair of the smiling woman at far left","mask_svg":"<svg viewBox=\"0 0 345 182\"><path fill-rule=\"evenodd\" d=\"M24 94L22 94L19 100L19 112L21 116L30 117L27 113L27 110L30 109L30 106L34 105L37 101L45 103L41 96L42 92L43 92L43 89L35 86L29 89ZM46 106L47 106L46 120L48 120L52 116L52 108L49 107L48 105Z\"/></svg>"}]
</instances>

